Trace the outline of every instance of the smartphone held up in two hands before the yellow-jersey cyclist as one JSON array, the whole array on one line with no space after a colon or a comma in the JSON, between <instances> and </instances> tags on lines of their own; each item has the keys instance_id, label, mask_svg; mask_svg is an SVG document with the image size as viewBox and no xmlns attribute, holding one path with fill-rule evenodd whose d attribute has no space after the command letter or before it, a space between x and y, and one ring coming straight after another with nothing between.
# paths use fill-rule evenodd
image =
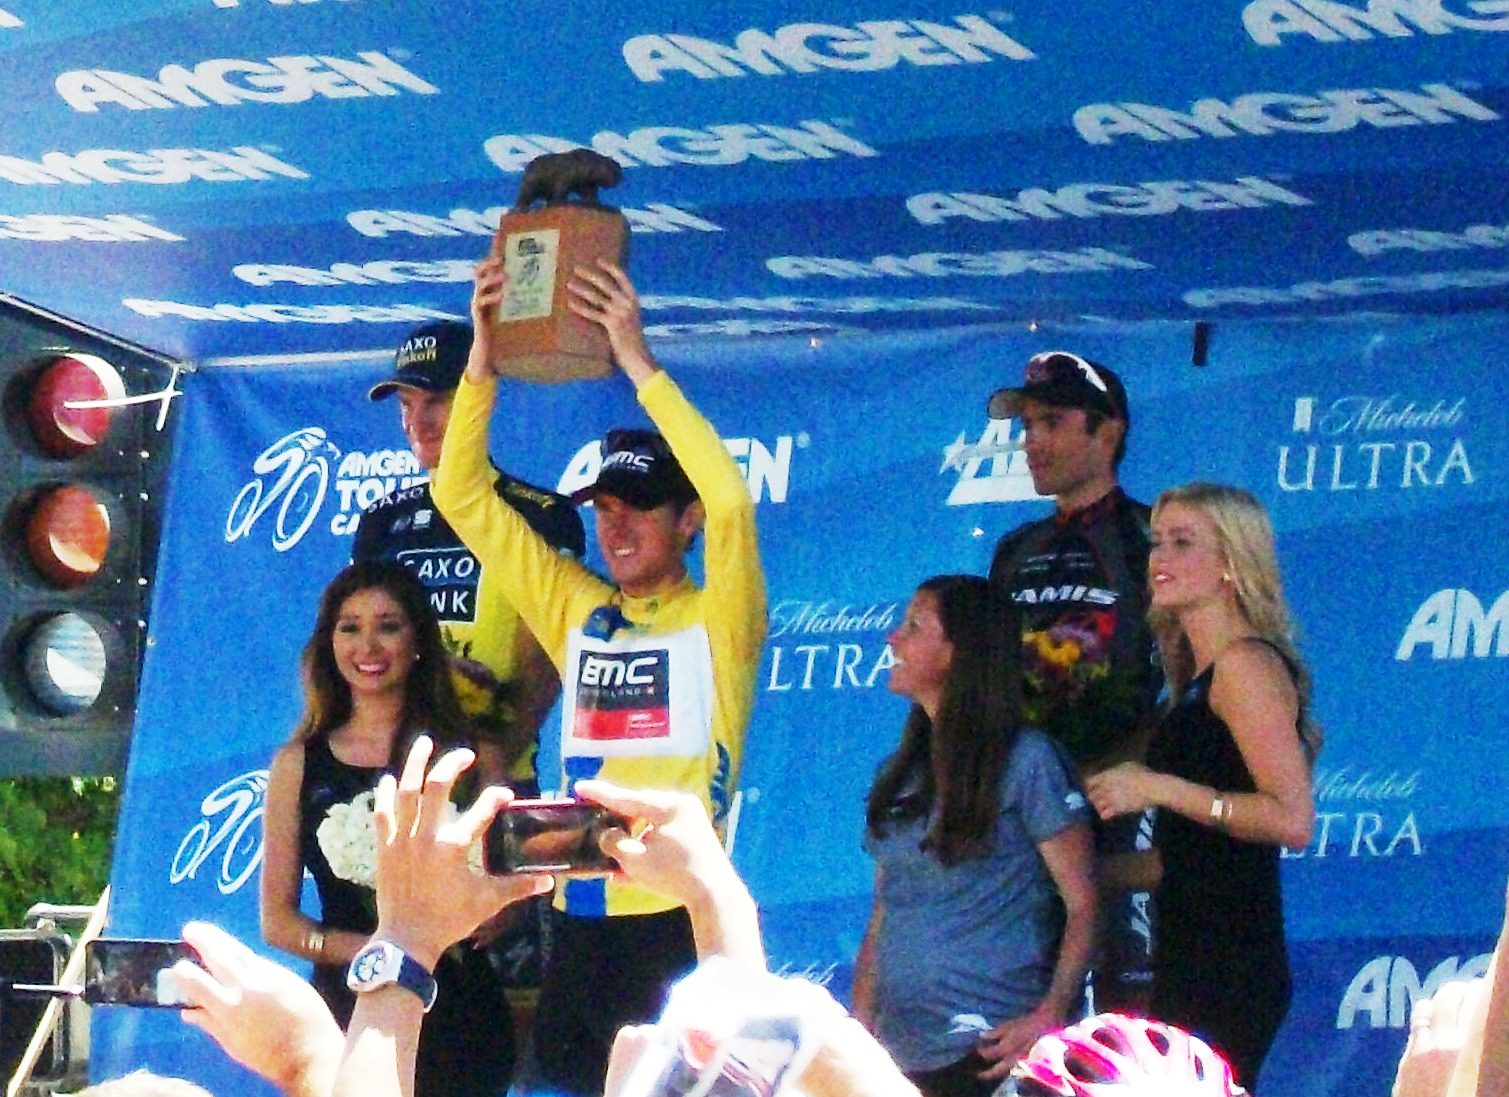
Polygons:
<instances>
[{"instance_id":1,"label":"smartphone held up in two hands before the yellow-jersey cyclist","mask_svg":"<svg viewBox=\"0 0 1509 1097\"><path fill-rule=\"evenodd\" d=\"M493 875L552 872L605 875L617 863L598 845L608 827L629 828L617 812L585 800L515 800L487 827L483 863Z\"/></svg>"}]
</instances>

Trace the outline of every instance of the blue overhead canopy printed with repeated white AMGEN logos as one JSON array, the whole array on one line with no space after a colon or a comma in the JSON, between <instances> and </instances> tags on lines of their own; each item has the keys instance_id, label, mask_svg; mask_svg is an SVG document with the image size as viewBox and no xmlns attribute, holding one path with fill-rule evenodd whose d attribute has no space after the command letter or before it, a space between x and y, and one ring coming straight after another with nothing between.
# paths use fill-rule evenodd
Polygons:
<instances>
[{"instance_id":1,"label":"blue overhead canopy printed with repeated white AMGEN logos","mask_svg":"<svg viewBox=\"0 0 1509 1097\"><path fill-rule=\"evenodd\" d=\"M590 145L687 332L1509 305L1492 0L607 11L0 0L0 290L189 359L397 346Z\"/></svg>"}]
</instances>

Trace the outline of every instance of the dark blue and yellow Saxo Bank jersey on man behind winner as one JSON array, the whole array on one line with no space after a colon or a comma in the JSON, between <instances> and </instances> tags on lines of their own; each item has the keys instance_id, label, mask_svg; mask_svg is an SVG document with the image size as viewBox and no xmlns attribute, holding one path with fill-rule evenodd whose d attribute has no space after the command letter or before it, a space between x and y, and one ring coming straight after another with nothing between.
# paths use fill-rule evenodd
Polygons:
<instances>
[{"instance_id":1,"label":"dark blue and yellow Saxo Bank jersey on man behind winner","mask_svg":"<svg viewBox=\"0 0 1509 1097\"><path fill-rule=\"evenodd\" d=\"M489 469L492 490L516 510L557 552L581 558L581 516L555 492ZM352 560L395 560L424 584L441 619L462 709L484 739L498 738L513 720L518 674L519 614L502 595L499 564L483 566L435 509L430 484L421 483L377 499L356 527ZM509 776L534 779L534 751L527 750Z\"/></svg>"}]
</instances>

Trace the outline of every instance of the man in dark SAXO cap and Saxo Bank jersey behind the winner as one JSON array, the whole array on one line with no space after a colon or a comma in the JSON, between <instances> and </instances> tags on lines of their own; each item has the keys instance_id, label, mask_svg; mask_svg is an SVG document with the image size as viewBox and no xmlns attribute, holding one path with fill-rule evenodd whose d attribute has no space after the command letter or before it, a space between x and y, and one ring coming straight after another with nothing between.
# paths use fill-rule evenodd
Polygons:
<instances>
[{"instance_id":1,"label":"man in dark SAXO cap and Saxo Bank jersey behind the winner","mask_svg":"<svg viewBox=\"0 0 1509 1097\"><path fill-rule=\"evenodd\" d=\"M398 419L420 466L432 471L466 368L471 324L416 329L398 347L394 376L373 385L373 400L398 397ZM492 469L492 489L566 555L585 552L581 516L555 492ZM495 569L478 563L430 499L429 481L370 505L356 527L353 560L397 560L424 582L441 619L462 708L478 738L478 774L519 795L537 791L534 753L540 721L560 693L555 667L499 592Z\"/></svg>"}]
</instances>

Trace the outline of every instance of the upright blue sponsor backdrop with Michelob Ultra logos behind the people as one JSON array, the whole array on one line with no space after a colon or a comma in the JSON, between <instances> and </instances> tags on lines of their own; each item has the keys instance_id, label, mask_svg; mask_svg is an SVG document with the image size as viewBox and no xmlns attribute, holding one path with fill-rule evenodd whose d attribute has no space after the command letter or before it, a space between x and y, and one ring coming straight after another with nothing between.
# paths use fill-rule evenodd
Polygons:
<instances>
[{"instance_id":1,"label":"upright blue sponsor backdrop with Michelob Ultra logos behind the people","mask_svg":"<svg viewBox=\"0 0 1509 1097\"><path fill-rule=\"evenodd\" d=\"M1480 969L1503 913L1506 338L1503 320L1222 326L1201 368L1174 326L665 347L759 501L771 629L735 860L774 963L847 994L863 794L905 711L884 635L917 581L982 570L1046 509L984 400L1067 346L1127 382L1133 495L1215 478L1272 512L1328 741L1314 840L1284 862L1296 999L1265 1092L1385 1094L1409 1003ZM257 940L264 771L317 595L359 507L413 474L395 409L365 400L388 368L184 383L112 933L207 917ZM563 487L607 426L640 421L622 377L513 385L499 407L496 459ZM171 1016L98 1011L94 1052L101 1076L146 1062L250 1091Z\"/></svg>"}]
</instances>

